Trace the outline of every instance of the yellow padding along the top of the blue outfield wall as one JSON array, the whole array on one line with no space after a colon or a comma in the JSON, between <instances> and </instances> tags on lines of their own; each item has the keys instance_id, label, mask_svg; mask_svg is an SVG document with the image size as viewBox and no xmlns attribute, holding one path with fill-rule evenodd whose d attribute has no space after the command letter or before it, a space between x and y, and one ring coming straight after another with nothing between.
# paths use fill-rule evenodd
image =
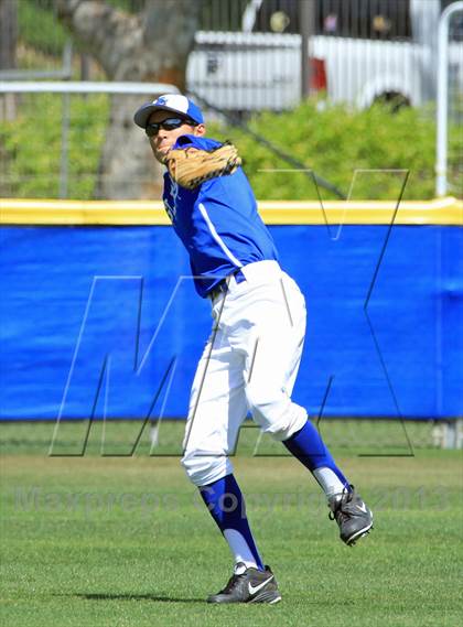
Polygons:
<instances>
[{"instance_id":1,"label":"yellow padding along the top of the blue outfield wall","mask_svg":"<svg viewBox=\"0 0 463 627\"><path fill-rule=\"evenodd\" d=\"M463 224L463 201L317 202L261 201L259 213L268 225L450 225ZM161 202L36 201L0 198L4 225L169 225Z\"/></svg>"}]
</instances>

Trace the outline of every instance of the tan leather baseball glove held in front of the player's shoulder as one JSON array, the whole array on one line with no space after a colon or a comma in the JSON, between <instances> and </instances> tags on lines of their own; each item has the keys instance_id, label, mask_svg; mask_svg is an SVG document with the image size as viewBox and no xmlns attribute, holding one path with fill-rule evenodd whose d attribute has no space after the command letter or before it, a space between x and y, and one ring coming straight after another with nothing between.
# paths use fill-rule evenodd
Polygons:
<instances>
[{"instance_id":1,"label":"tan leather baseball glove held in front of the player's shoulder","mask_svg":"<svg viewBox=\"0 0 463 627\"><path fill-rule=\"evenodd\" d=\"M226 142L213 150L176 148L168 153L165 165L179 185L194 190L204 181L233 174L241 165L241 159L237 149Z\"/></svg>"}]
</instances>

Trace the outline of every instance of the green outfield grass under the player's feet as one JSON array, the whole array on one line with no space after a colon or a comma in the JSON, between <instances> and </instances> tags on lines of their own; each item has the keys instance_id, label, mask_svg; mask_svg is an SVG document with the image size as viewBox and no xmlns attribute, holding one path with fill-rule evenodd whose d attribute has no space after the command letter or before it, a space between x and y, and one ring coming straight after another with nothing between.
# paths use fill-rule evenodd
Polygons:
<instances>
[{"instance_id":1,"label":"green outfield grass under the player's feet","mask_svg":"<svg viewBox=\"0 0 463 627\"><path fill-rule=\"evenodd\" d=\"M461 624L461 453L338 457L375 511L354 549L301 465L238 455L283 601L216 607L204 598L229 576L228 549L177 458L51 458L36 450L43 425L35 450L12 429L1 461L4 627Z\"/></svg>"}]
</instances>

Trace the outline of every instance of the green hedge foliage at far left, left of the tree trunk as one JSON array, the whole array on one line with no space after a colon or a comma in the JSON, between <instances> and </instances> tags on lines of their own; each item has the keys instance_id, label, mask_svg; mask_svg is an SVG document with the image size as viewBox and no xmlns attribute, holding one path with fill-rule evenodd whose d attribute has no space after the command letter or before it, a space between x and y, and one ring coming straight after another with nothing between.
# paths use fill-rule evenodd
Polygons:
<instances>
[{"instance_id":1,"label":"green hedge foliage at far left, left of the tree trunk","mask_svg":"<svg viewBox=\"0 0 463 627\"><path fill-rule=\"evenodd\" d=\"M105 95L73 96L69 100L67 196L89 199L97 182L109 101ZM18 117L0 122L1 195L58 197L62 107L58 95L24 96Z\"/></svg>"}]
</instances>

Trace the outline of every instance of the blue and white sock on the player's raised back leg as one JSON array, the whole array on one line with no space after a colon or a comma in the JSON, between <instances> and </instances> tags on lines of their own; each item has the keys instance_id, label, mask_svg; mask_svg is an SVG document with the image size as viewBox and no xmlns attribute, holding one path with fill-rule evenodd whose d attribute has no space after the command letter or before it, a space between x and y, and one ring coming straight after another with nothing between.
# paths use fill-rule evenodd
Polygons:
<instances>
[{"instance_id":1,"label":"blue and white sock on the player's raised back leg","mask_svg":"<svg viewBox=\"0 0 463 627\"><path fill-rule=\"evenodd\" d=\"M315 478L319 480L319 473L314 473L319 468L327 468L334 473L335 477L333 476L334 480L337 478L338 484L338 491L342 491L343 488L346 488L351 491L351 486L336 466L330 451L326 448L323 440L315 429L315 426L311 423L310 420L306 421L304 426L291 435L288 440L283 442L284 446L288 448L290 453L294 455L311 473L315 475ZM319 480L320 483L320 480ZM337 482L336 482L337 483ZM322 485L324 488L324 486ZM325 490L326 491L326 490Z\"/></svg>"}]
</instances>

